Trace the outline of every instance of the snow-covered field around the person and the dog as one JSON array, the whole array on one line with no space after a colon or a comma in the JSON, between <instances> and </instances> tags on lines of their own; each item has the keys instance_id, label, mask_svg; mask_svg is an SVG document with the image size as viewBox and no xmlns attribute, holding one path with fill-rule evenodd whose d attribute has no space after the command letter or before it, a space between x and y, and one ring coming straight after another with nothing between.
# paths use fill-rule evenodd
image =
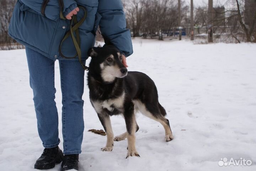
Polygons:
<instances>
[{"instance_id":1,"label":"snow-covered field around the person and the dog","mask_svg":"<svg viewBox=\"0 0 256 171\"><path fill-rule=\"evenodd\" d=\"M140 157L126 159L127 140L115 142L111 152L100 151L106 137L87 132L102 129L102 125L85 86L80 170L256 170L256 44L135 39L133 46L128 70L142 71L155 81L174 140L165 142L162 125L138 114ZM0 170L34 171L43 146L37 133L25 50L0 51L0 58ZM55 68L61 115L58 62ZM111 121L115 135L125 131L121 116L112 116ZM224 157L251 160L252 165L221 167L218 162ZM52 170L60 170L60 165Z\"/></svg>"}]
</instances>

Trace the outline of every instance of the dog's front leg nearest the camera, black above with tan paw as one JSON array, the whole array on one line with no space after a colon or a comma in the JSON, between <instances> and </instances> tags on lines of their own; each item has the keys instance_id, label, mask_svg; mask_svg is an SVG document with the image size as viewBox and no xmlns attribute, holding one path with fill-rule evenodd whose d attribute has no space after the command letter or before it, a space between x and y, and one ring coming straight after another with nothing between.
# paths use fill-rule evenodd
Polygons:
<instances>
[{"instance_id":1,"label":"dog's front leg nearest the camera, black above with tan paw","mask_svg":"<svg viewBox=\"0 0 256 171\"><path fill-rule=\"evenodd\" d=\"M132 102L127 104L127 107L124 108L124 120L126 122L128 140L128 152L126 158L129 156L140 157L135 147L135 132L137 129L137 124L134 114L134 104Z\"/></svg>"}]
</instances>

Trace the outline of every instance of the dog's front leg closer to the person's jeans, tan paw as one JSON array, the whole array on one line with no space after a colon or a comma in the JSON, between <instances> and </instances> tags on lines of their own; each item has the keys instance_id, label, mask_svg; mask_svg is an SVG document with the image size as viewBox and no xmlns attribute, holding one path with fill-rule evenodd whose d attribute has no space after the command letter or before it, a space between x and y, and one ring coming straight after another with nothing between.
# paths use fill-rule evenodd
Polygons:
<instances>
[{"instance_id":1,"label":"dog's front leg closer to the person's jeans, tan paw","mask_svg":"<svg viewBox=\"0 0 256 171\"><path fill-rule=\"evenodd\" d=\"M107 143L106 146L101 149L101 151L112 151L114 146L114 134L111 126L110 116L108 114L98 114L98 118L107 133Z\"/></svg>"}]
</instances>

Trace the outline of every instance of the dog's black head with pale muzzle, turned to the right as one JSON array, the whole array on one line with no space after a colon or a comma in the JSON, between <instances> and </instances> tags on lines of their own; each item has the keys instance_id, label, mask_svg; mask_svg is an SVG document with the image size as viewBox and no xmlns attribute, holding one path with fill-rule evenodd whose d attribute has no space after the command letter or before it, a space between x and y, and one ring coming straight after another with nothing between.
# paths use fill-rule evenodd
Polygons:
<instances>
[{"instance_id":1,"label":"dog's black head with pale muzzle, turned to the right","mask_svg":"<svg viewBox=\"0 0 256 171\"><path fill-rule=\"evenodd\" d=\"M113 82L116 78L127 75L127 69L122 63L122 55L113 45L89 49L91 57L90 70L99 74L103 81Z\"/></svg>"}]
</instances>

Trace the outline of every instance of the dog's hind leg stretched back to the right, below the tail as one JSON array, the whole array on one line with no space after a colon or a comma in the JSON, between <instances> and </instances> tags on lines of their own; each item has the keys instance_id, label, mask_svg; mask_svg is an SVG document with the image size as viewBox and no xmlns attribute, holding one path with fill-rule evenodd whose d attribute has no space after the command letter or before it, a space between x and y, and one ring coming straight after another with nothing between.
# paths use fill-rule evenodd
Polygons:
<instances>
[{"instance_id":1,"label":"dog's hind leg stretched back to the right, below the tail","mask_svg":"<svg viewBox=\"0 0 256 171\"><path fill-rule=\"evenodd\" d=\"M147 105L141 101L135 101L136 105L139 108L139 111L155 121L160 122L165 129L165 141L171 141L173 139L172 131L170 128L169 120L165 118L166 112L165 109L158 103L157 105Z\"/></svg>"}]
</instances>

